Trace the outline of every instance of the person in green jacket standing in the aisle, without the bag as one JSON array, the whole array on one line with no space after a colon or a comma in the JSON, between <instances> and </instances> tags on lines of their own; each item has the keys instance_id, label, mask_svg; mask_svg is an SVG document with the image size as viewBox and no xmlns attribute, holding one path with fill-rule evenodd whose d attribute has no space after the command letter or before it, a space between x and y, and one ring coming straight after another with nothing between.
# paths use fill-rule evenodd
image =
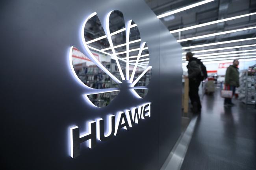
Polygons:
<instances>
[{"instance_id":1,"label":"person in green jacket standing in the aisle, without the bag","mask_svg":"<svg viewBox=\"0 0 256 170\"><path fill-rule=\"evenodd\" d=\"M233 96L236 92L236 87L239 87L239 71L237 66L239 65L238 60L233 61L233 65L230 65L226 70L225 75L225 86L226 89L230 89L233 92ZM234 105L232 98L225 98L224 105Z\"/></svg>"}]
</instances>

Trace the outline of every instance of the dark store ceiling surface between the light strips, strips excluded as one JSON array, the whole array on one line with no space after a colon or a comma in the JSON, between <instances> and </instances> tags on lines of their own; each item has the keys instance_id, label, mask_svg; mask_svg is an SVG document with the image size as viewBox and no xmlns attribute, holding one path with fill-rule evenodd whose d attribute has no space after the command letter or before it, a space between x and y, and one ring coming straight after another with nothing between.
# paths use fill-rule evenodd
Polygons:
<instances>
[{"instance_id":1,"label":"dark store ceiling surface between the light strips, strips excluded","mask_svg":"<svg viewBox=\"0 0 256 170\"><path fill-rule=\"evenodd\" d=\"M187 5L195 4L201 2L202 0L145 0L149 7L156 13L160 15ZM239 16L242 14L249 14L256 12L256 0L214 0L207 4L203 4L185 11L181 11L170 16L160 18L160 20L165 24L165 26L170 30L181 29L184 27L189 27L198 24L204 24L207 22L212 22L216 20L221 20L224 18L230 18L233 16ZM177 39L191 38L195 36L201 36L212 33L219 33L223 31L230 31L235 29L242 29L246 27L256 26L256 14L251 16L246 16L242 18L237 18L234 20L229 20L226 22L220 22L218 24L207 25L203 27L198 27L195 29L189 29L186 31L181 31L173 33L173 36ZM195 40L188 40L181 42L182 47L188 47L191 45L201 45L206 43L223 42L229 40L238 40L244 38L254 38L256 37L256 29L248 29L245 31L237 31L234 33L222 34L217 36L209 36L206 38L199 38ZM193 49L184 49L187 51L198 51L205 49L215 49L222 47L231 47L238 45L249 45L256 44L256 40L247 40L241 42L224 43L219 45L211 45L207 47L198 47ZM256 46L228 49L228 50L217 50L213 52L226 52L226 51L238 51L256 49ZM200 53L202 54L202 53ZM207 54L207 52L204 52ZM183 55L184 56L184 55ZM256 55L255 55L256 56Z\"/></svg>"}]
</instances>

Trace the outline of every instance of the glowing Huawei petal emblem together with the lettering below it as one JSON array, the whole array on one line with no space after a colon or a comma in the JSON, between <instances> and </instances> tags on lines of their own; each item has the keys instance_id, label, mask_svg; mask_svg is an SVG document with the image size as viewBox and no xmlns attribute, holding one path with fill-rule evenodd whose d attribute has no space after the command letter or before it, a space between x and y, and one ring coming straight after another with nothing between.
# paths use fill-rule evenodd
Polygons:
<instances>
[{"instance_id":1,"label":"glowing Huawei petal emblem together with the lettering below it","mask_svg":"<svg viewBox=\"0 0 256 170\"><path fill-rule=\"evenodd\" d=\"M120 90L130 90L137 98L147 95L151 79L149 52L141 42L137 24L124 22L120 11L108 13L102 25L96 13L82 25L83 54L70 47L69 61L76 80L87 90L84 97L94 107L105 107ZM78 126L70 128L70 156L80 155L80 143L87 141L94 148L99 141L108 141L121 129L128 130L143 119L150 118L151 103L136 105L128 110L89 121L87 132Z\"/></svg>"}]
</instances>

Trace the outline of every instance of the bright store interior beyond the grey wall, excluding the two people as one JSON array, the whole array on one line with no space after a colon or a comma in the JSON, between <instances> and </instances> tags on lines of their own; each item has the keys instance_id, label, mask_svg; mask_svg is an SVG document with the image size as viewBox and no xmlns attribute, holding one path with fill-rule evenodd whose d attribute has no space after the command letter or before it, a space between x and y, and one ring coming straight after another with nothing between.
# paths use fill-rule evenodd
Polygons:
<instances>
[{"instance_id":1,"label":"bright store interior beyond the grey wall, excluding the two people","mask_svg":"<svg viewBox=\"0 0 256 170\"><path fill-rule=\"evenodd\" d=\"M182 78L182 133L190 140L189 130L194 131L187 152L174 147L162 170L255 169L256 1L145 2L182 45L183 75L188 75L187 52L202 61L208 73L199 86L198 116L192 113L189 85ZM232 96L234 105L226 107L221 91L234 60L239 61L239 87Z\"/></svg>"}]
</instances>

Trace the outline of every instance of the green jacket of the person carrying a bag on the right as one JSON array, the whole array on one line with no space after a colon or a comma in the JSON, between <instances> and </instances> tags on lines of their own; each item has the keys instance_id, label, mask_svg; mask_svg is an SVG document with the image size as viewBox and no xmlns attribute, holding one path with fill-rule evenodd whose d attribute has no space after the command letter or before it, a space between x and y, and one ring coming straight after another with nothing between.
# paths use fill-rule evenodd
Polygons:
<instances>
[{"instance_id":1,"label":"green jacket of the person carrying a bag on the right","mask_svg":"<svg viewBox=\"0 0 256 170\"><path fill-rule=\"evenodd\" d=\"M239 71L234 65L230 65L226 71L225 84L239 87Z\"/></svg>"}]
</instances>

